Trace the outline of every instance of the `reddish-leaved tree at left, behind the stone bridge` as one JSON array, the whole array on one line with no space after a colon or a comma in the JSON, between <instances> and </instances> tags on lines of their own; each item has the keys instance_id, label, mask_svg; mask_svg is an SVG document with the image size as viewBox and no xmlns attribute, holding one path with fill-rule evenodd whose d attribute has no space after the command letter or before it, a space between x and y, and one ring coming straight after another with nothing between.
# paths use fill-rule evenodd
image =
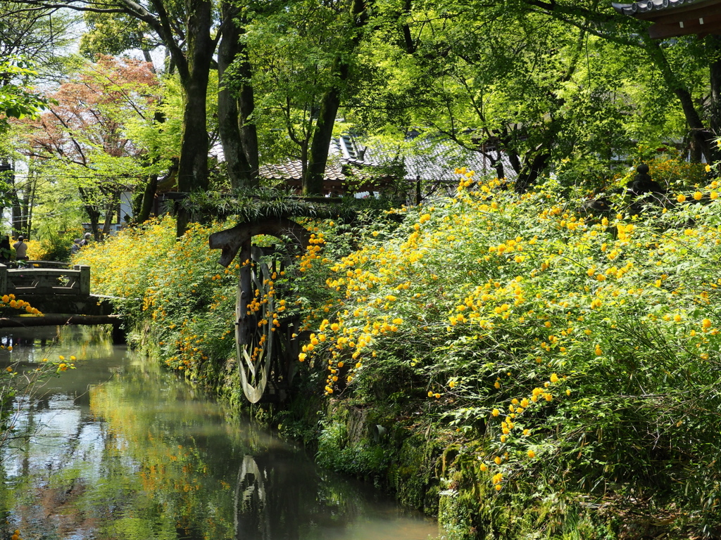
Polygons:
<instances>
[{"instance_id":1,"label":"reddish-leaved tree at left, behind the stone bridge","mask_svg":"<svg viewBox=\"0 0 721 540\"><path fill-rule=\"evenodd\" d=\"M105 57L82 66L50 99L48 112L24 122L30 168L74 183L95 238L102 238L121 192L167 165L149 162L147 148L128 135L133 121L154 116L159 81L147 63Z\"/></svg>"}]
</instances>

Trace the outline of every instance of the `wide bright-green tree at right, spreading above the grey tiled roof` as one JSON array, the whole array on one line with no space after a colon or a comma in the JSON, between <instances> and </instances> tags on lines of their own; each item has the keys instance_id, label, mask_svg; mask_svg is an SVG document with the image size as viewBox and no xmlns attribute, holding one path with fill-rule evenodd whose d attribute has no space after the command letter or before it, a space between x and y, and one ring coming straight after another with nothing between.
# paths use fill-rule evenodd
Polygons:
<instances>
[{"instance_id":1,"label":"wide bright-green tree at right, spreading above the grey tiled roof","mask_svg":"<svg viewBox=\"0 0 721 540\"><path fill-rule=\"evenodd\" d=\"M594 8L596 19L578 6L384 2L345 117L366 132L420 130L482 153L498 176L513 168L521 191L571 156L608 169L639 140L660 146L687 135L712 155L694 109L707 101L695 96L709 53L690 41L660 47L610 6ZM647 70L638 68L641 47L660 55Z\"/></svg>"}]
</instances>

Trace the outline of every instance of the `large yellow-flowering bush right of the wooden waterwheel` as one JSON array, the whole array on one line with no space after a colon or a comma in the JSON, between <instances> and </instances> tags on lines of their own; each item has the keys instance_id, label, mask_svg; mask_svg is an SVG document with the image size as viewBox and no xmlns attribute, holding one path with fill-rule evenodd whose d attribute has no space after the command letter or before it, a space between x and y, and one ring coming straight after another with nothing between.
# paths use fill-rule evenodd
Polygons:
<instances>
[{"instance_id":1,"label":"large yellow-flowering bush right of the wooden waterwheel","mask_svg":"<svg viewBox=\"0 0 721 540\"><path fill-rule=\"evenodd\" d=\"M454 199L398 210L401 228L331 265L340 302L299 360L327 372L327 395L447 426L487 519L552 493L653 490L675 526L715 530L718 183L593 217L551 182L518 196L459 174Z\"/></svg>"}]
</instances>

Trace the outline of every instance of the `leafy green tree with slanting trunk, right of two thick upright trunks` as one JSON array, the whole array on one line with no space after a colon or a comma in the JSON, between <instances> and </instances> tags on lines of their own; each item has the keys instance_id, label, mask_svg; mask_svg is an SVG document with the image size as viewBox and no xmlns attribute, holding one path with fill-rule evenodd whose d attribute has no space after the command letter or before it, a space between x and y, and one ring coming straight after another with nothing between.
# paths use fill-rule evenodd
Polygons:
<instances>
[{"instance_id":1,"label":"leafy green tree with slanting trunk, right of two thick upright trunks","mask_svg":"<svg viewBox=\"0 0 721 540\"><path fill-rule=\"evenodd\" d=\"M304 194L322 192L328 148L367 8L361 0L278 4L245 24L247 57L227 71L226 85L252 86L257 96L253 118L262 128L265 160L300 161Z\"/></svg>"}]
</instances>

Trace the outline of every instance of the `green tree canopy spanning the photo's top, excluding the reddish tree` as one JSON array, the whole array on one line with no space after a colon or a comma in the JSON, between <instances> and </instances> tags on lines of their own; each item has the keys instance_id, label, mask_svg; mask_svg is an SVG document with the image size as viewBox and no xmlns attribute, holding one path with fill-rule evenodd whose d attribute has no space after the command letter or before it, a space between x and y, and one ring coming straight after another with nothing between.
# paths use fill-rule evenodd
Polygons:
<instances>
[{"instance_id":1,"label":"green tree canopy spanning the photo's top, excluding the reddish tree","mask_svg":"<svg viewBox=\"0 0 721 540\"><path fill-rule=\"evenodd\" d=\"M651 40L647 22L610 4L4 4L0 55L25 53L40 63L37 73L56 66L48 97L68 84L63 73L79 73L77 60L57 53L79 12L79 52L86 58L155 60L148 66L158 71L159 91L148 117L124 109L123 96L107 94L119 100L118 111L137 117L120 122L117 136L127 148L143 148L138 166L145 180L133 184L142 218L157 189L257 188L265 186L262 165L286 161L300 164L304 193L318 194L330 140L342 132L398 149L401 163L410 136L423 140L416 145L422 151L463 148L513 179L518 191L561 170L575 171L574 182L590 190L603 189L619 167L639 158L639 148L673 150L691 161L719 157L719 38ZM12 17L22 25L10 24ZM24 69L22 60L6 65ZM10 78L30 83L31 75L16 71ZM32 114L42 104L24 84L5 84L0 92L7 116ZM37 148L37 140L21 135L25 148ZM92 148L95 156L112 154ZM46 152L43 159L70 156ZM93 174L127 176L123 160L112 157L104 167L117 170ZM190 215L184 205L177 212L180 234Z\"/></svg>"}]
</instances>

